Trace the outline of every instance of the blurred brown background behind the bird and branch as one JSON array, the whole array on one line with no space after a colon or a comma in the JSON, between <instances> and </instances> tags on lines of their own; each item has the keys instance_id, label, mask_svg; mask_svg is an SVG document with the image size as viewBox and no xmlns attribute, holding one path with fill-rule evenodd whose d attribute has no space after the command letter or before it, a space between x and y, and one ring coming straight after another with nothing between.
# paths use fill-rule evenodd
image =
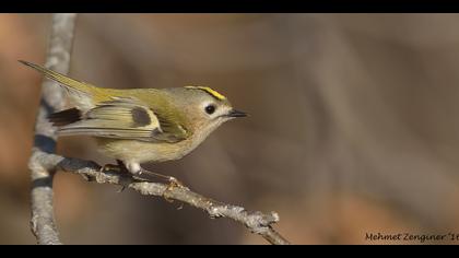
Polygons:
<instances>
[{"instance_id":1,"label":"blurred brown background behind the bird and branch","mask_svg":"<svg viewBox=\"0 0 459 258\"><path fill-rule=\"evenodd\" d=\"M148 167L254 210L295 244L459 233L459 15L81 14L73 78L209 85L251 114L181 161ZM50 14L0 15L0 244L28 230L32 145ZM59 153L113 162L86 138ZM68 244L264 244L199 210L59 173ZM381 243L381 242L379 242ZM384 243L384 242L382 242Z\"/></svg>"}]
</instances>

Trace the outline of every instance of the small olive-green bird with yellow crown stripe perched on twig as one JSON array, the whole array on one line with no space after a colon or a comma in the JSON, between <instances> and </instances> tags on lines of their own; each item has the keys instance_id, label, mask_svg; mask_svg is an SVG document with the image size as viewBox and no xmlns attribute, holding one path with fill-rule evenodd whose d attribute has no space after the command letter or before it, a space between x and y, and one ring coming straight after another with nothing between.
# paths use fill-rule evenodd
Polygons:
<instances>
[{"instance_id":1,"label":"small olive-green bird with yellow crown stripe perched on twig","mask_svg":"<svg viewBox=\"0 0 459 258\"><path fill-rule=\"evenodd\" d=\"M141 163L179 160L225 121L247 116L234 109L225 96L205 86L103 89L20 62L67 91L74 107L48 117L58 127L58 136L94 137L103 154L116 159L121 169L134 175L151 173Z\"/></svg>"}]
</instances>

